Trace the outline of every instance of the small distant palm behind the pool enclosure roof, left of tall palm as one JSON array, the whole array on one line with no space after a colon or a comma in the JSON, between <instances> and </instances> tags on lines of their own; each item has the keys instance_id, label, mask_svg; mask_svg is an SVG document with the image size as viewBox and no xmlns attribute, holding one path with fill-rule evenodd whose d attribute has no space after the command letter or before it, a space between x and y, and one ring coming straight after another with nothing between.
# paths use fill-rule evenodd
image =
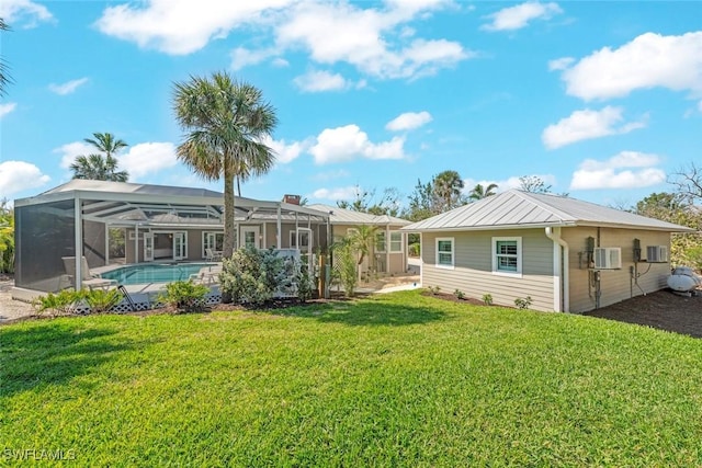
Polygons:
<instances>
[{"instance_id":1,"label":"small distant palm behind the pool enclosure roof, left of tall palm","mask_svg":"<svg viewBox=\"0 0 702 468\"><path fill-rule=\"evenodd\" d=\"M126 182L129 180L127 171L120 171L120 162L115 155L128 145L114 137L110 133L93 133L94 138L84 138L83 141L95 147L99 153L79 156L70 169L73 179L91 179L95 181Z\"/></svg>"}]
</instances>

